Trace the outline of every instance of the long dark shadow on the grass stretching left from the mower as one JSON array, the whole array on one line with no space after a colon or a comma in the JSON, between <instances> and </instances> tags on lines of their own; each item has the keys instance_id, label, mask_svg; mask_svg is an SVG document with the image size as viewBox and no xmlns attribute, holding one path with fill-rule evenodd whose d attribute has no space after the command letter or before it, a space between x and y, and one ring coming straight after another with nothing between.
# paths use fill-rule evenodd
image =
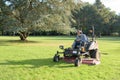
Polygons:
<instances>
[{"instance_id":1,"label":"long dark shadow on the grass stretching left from the mower","mask_svg":"<svg viewBox=\"0 0 120 80\"><path fill-rule=\"evenodd\" d=\"M30 59L30 60L22 60L22 61L10 61L7 60L5 63L0 63L0 65L14 65L14 67L16 66L24 66L27 68L39 68L39 67L43 67L43 66L47 66L47 67L54 67L55 65L60 65L61 63L64 63L62 61L60 62L53 62L52 58L46 58L46 59ZM64 68L66 66L59 66L59 68ZM70 67L70 66L67 66Z\"/></svg>"}]
</instances>

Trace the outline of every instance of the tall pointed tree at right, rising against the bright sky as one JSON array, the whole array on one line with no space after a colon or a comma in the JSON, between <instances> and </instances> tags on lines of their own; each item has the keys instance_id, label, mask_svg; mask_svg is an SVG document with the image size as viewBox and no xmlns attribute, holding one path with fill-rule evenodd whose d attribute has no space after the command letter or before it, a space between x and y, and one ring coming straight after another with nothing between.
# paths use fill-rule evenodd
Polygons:
<instances>
[{"instance_id":1,"label":"tall pointed tree at right, rising against the bright sky","mask_svg":"<svg viewBox=\"0 0 120 80\"><path fill-rule=\"evenodd\" d=\"M108 31L108 29L110 29L110 26L114 23L115 12L112 12L109 8L106 8L100 0L96 0L93 6L97 8L97 11L102 19L101 25L97 27L100 29L99 33L109 35L111 31Z\"/></svg>"}]
</instances>

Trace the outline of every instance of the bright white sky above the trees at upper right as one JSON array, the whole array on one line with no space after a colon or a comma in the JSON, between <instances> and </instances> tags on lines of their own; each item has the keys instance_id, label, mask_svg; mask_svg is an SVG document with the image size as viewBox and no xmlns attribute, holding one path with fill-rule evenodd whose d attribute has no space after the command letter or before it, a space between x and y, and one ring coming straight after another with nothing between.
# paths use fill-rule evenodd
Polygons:
<instances>
[{"instance_id":1,"label":"bright white sky above the trees at upper right","mask_svg":"<svg viewBox=\"0 0 120 80\"><path fill-rule=\"evenodd\" d=\"M95 0L82 0L84 2L89 2L93 4ZM120 14L120 0L101 0L101 2L112 11L115 11L116 14Z\"/></svg>"}]
</instances>

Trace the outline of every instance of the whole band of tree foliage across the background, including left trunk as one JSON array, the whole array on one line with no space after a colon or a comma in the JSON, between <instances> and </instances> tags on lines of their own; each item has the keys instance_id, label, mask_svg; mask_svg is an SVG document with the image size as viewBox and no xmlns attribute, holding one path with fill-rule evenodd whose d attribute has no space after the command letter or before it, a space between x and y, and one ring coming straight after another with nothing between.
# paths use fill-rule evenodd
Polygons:
<instances>
[{"instance_id":1,"label":"whole band of tree foliage across the background, including left trunk","mask_svg":"<svg viewBox=\"0 0 120 80\"><path fill-rule=\"evenodd\" d=\"M17 33L21 40L34 32L70 34L82 29L88 33L91 26L97 34L120 34L120 15L100 0L94 4L81 0L0 0L0 22L1 34Z\"/></svg>"}]
</instances>

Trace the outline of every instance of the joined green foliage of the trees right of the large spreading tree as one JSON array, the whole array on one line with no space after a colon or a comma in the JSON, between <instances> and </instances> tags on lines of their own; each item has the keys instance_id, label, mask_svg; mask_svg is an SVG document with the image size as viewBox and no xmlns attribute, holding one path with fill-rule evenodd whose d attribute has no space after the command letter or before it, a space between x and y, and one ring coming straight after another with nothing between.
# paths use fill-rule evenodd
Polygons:
<instances>
[{"instance_id":1,"label":"joined green foliage of the trees right of the large spreading tree","mask_svg":"<svg viewBox=\"0 0 120 80\"><path fill-rule=\"evenodd\" d=\"M106 8L100 0L92 5L89 3L83 3L80 9L72 11L74 22L72 26L77 29L83 29L85 33L91 26L95 26L96 34L111 34L113 32L114 23L116 22L116 14Z\"/></svg>"}]
</instances>

